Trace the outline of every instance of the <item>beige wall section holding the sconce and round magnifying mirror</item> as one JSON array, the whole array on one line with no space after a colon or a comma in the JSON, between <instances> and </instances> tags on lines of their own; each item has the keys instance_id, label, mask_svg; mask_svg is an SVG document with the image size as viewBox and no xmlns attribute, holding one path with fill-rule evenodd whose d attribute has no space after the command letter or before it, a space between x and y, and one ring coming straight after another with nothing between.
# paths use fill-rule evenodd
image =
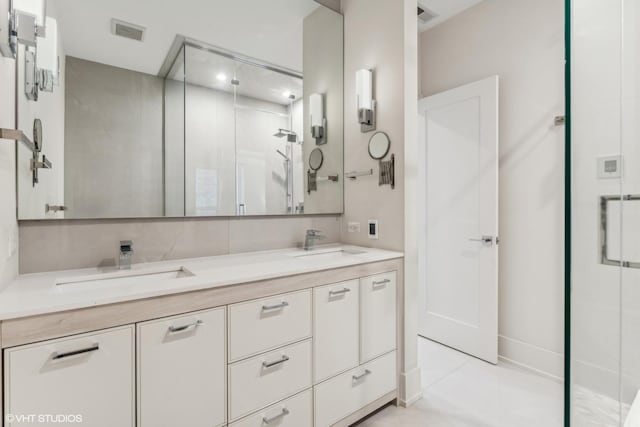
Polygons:
<instances>
[{"instance_id":1,"label":"beige wall section holding the sconce and round magnifying mirror","mask_svg":"<svg viewBox=\"0 0 640 427\"><path fill-rule=\"evenodd\" d=\"M404 343L401 361L400 403L409 405L421 396L417 361L416 171L418 165L405 158L417 147L417 21L415 0L343 0L345 22L344 130L345 171L373 168L375 176L345 182L345 213L342 240L363 246L407 250L402 304ZM357 123L355 74L374 70L374 98L378 101L378 130L391 139L396 159L396 186L378 185L378 162L371 159L367 144L371 133L361 133ZM406 150L406 153L405 153ZM405 188L406 185L406 188ZM405 200L406 196L406 200ZM405 205L406 201L406 205ZM408 218L405 228L405 216ZM367 237L367 220L379 221L379 240ZM349 233L349 222L359 222L360 232ZM407 240L405 241L405 235Z\"/></svg>"}]
</instances>

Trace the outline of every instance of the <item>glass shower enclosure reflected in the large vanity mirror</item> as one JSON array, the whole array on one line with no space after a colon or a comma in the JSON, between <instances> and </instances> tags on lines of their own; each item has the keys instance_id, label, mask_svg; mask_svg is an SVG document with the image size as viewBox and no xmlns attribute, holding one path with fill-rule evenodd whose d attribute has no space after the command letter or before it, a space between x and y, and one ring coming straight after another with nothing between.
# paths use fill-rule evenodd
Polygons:
<instances>
[{"instance_id":1,"label":"glass shower enclosure reflected in the large vanity mirror","mask_svg":"<svg viewBox=\"0 0 640 427\"><path fill-rule=\"evenodd\" d=\"M302 78L184 50L186 215L302 213Z\"/></svg>"}]
</instances>

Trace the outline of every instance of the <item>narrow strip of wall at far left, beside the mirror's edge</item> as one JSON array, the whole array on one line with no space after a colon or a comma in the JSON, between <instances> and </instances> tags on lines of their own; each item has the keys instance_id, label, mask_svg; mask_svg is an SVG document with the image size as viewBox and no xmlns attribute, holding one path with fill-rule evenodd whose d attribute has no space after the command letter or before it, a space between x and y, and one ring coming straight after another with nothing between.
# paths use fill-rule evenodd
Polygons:
<instances>
[{"instance_id":1,"label":"narrow strip of wall at far left, beside the mirror's edge","mask_svg":"<svg viewBox=\"0 0 640 427\"><path fill-rule=\"evenodd\" d=\"M0 127L15 128L15 61L0 56ZM18 274L15 142L0 139L0 289Z\"/></svg>"}]
</instances>

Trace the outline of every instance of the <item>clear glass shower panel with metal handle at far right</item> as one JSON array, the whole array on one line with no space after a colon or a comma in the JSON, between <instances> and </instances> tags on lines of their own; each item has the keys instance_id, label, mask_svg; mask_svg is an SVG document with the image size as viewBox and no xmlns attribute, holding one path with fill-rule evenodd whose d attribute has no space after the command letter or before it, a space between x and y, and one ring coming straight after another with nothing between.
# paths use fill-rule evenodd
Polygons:
<instances>
[{"instance_id":1,"label":"clear glass shower panel with metal handle at far right","mask_svg":"<svg viewBox=\"0 0 640 427\"><path fill-rule=\"evenodd\" d=\"M571 425L640 425L640 1L571 4Z\"/></svg>"}]
</instances>

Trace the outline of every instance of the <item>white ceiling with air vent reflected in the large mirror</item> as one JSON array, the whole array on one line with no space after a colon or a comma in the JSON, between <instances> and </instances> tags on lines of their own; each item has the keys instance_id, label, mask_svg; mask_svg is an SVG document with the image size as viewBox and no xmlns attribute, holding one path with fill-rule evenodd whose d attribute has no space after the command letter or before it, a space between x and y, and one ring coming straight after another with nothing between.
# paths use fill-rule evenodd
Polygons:
<instances>
[{"instance_id":1,"label":"white ceiling with air vent reflected in the large mirror","mask_svg":"<svg viewBox=\"0 0 640 427\"><path fill-rule=\"evenodd\" d=\"M157 74L176 35L302 71L302 22L313 0L50 0L65 54ZM111 34L112 18L146 28Z\"/></svg>"}]
</instances>

